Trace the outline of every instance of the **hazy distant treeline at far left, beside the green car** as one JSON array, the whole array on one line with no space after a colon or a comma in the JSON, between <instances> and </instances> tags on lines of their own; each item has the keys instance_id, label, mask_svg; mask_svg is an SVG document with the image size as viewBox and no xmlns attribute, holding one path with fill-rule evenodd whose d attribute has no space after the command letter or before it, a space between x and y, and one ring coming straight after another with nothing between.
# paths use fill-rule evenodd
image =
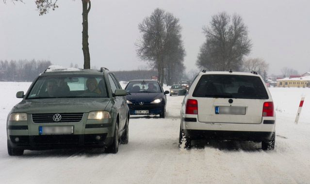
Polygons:
<instances>
[{"instance_id":1,"label":"hazy distant treeline at far left, beside the green car","mask_svg":"<svg viewBox=\"0 0 310 184\"><path fill-rule=\"evenodd\" d=\"M0 61L0 81L33 81L50 65L45 60Z\"/></svg>"}]
</instances>

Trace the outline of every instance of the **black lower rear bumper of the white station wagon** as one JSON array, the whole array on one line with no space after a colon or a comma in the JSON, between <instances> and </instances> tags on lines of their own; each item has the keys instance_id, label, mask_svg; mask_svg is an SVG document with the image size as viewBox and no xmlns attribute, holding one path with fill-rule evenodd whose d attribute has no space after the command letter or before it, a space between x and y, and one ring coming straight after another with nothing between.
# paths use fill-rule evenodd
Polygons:
<instances>
[{"instance_id":1,"label":"black lower rear bumper of the white station wagon","mask_svg":"<svg viewBox=\"0 0 310 184\"><path fill-rule=\"evenodd\" d=\"M250 140L267 141L275 132L254 131L218 131L218 130L184 130L186 136L191 139L216 139L216 140Z\"/></svg>"}]
</instances>

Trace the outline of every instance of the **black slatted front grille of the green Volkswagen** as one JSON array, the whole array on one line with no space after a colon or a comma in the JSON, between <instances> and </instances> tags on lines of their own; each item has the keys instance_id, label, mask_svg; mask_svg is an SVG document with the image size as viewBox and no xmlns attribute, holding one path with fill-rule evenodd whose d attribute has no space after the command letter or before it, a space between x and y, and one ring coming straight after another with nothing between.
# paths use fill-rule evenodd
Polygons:
<instances>
[{"instance_id":1,"label":"black slatted front grille of the green Volkswagen","mask_svg":"<svg viewBox=\"0 0 310 184\"><path fill-rule=\"evenodd\" d=\"M61 120L55 122L53 116L56 113L49 114L32 114L33 123L74 123L81 122L84 113L59 113L61 115Z\"/></svg>"}]
</instances>

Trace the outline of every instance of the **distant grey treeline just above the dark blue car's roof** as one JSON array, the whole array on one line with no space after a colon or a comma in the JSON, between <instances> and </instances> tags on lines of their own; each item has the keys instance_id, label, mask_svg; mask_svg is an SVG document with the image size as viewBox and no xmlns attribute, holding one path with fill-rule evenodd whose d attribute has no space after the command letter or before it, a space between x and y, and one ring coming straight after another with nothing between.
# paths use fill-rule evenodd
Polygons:
<instances>
[{"instance_id":1,"label":"distant grey treeline just above the dark blue car's roof","mask_svg":"<svg viewBox=\"0 0 310 184\"><path fill-rule=\"evenodd\" d=\"M152 76L158 76L155 70L131 70L113 72L119 81L130 81L134 79L151 79Z\"/></svg>"}]
</instances>

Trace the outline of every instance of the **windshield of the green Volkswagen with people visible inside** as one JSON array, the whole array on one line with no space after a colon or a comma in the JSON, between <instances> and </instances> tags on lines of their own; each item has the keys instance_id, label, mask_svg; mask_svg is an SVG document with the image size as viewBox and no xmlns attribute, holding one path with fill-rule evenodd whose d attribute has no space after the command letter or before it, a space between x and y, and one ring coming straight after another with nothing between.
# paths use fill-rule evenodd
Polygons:
<instances>
[{"instance_id":1,"label":"windshield of the green Volkswagen with people visible inside","mask_svg":"<svg viewBox=\"0 0 310 184\"><path fill-rule=\"evenodd\" d=\"M105 80L94 75L55 75L39 77L27 99L108 97Z\"/></svg>"}]
</instances>

